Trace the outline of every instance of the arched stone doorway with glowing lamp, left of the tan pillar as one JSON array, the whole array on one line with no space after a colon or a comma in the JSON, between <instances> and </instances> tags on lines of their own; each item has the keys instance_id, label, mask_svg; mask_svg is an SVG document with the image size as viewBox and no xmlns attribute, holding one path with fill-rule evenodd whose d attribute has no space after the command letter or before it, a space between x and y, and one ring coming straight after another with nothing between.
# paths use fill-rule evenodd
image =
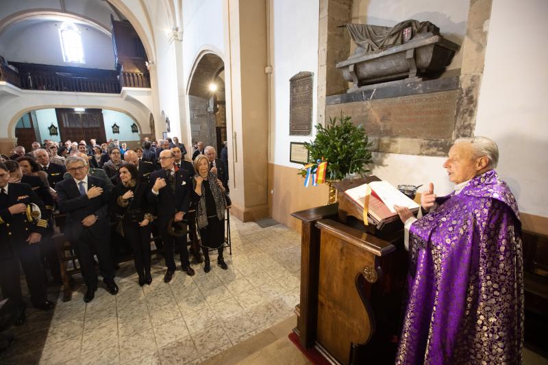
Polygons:
<instances>
[{"instance_id":1,"label":"arched stone doorway with glowing lamp, left of the tan pillar","mask_svg":"<svg viewBox=\"0 0 548 365\"><path fill-rule=\"evenodd\" d=\"M225 80L219 75L225 62L219 54L203 50L198 54L187 83L189 124L192 142L204 142L217 151L227 140ZM209 89L211 83L217 89Z\"/></svg>"}]
</instances>

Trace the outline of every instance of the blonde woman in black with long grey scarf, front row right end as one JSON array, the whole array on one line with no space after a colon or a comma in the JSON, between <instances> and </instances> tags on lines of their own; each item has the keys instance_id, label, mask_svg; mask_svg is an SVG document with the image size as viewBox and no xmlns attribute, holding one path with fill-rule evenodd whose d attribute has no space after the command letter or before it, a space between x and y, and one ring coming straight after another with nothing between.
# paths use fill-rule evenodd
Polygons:
<instances>
[{"instance_id":1,"label":"blonde woman in black with long grey scarf, front row right end","mask_svg":"<svg viewBox=\"0 0 548 365\"><path fill-rule=\"evenodd\" d=\"M223 270L228 266L223 260L225 242L225 188L217 175L210 172L206 155L198 155L194 161L194 196L196 201L196 221L201 237L201 248L205 259L203 270L209 273L210 249L217 249L217 264Z\"/></svg>"}]
</instances>

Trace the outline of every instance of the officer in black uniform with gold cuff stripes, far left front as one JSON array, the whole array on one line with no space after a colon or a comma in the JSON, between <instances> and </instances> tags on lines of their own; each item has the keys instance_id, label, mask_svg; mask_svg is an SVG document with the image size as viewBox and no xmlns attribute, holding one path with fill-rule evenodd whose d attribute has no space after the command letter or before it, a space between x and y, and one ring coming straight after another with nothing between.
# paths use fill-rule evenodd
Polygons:
<instances>
[{"instance_id":1,"label":"officer in black uniform with gold cuff stripes, far left front","mask_svg":"<svg viewBox=\"0 0 548 365\"><path fill-rule=\"evenodd\" d=\"M47 221L37 219L30 211L34 203L40 211L44 205L27 184L8 183L10 173L0 162L0 287L3 297L12 299L20 308L17 325L25 321L25 302L19 281L19 264L25 272L34 307L53 308L47 300L47 288L38 243L45 234Z\"/></svg>"}]
</instances>

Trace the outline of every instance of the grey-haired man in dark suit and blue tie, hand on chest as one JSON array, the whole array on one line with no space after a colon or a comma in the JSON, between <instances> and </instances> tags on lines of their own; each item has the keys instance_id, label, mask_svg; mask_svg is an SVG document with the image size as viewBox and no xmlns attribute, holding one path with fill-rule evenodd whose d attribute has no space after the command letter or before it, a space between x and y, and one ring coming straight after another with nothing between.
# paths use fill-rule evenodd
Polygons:
<instances>
[{"instance_id":1,"label":"grey-haired man in dark suit and blue tie, hand on chest","mask_svg":"<svg viewBox=\"0 0 548 365\"><path fill-rule=\"evenodd\" d=\"M103 179L87 175L88 164L85 158L71 156L65 160L65 165L66 171L73 178L60 181L55 190L59 209L66 212L64 234L73 244L82 276L88 286L84 295L84 301L88 303L95 297L97 290L94 252L97 253L108 292L112 295L118 292L109 247L108 191Z\"/></svg>"}]
</instances>

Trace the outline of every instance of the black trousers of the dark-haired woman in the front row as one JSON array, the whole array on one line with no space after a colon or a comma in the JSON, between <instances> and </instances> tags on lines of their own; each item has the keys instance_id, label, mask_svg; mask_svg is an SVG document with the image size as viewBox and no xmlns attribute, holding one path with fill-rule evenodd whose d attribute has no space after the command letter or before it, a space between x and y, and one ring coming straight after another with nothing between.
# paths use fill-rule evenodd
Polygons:
<instances>
[{"instance_id":1,"label":"black trousers of the dark-haired woman in the front row","mask_svg":"<svg viewBox=\"0 0 548 365\"><path fill-rule=\"evenodd\" d=\"M140 227L139 223L123 222L125 238L132 245L135 268L139 277L150 274L150 227Z\"/></svg>"}]
</instances>

